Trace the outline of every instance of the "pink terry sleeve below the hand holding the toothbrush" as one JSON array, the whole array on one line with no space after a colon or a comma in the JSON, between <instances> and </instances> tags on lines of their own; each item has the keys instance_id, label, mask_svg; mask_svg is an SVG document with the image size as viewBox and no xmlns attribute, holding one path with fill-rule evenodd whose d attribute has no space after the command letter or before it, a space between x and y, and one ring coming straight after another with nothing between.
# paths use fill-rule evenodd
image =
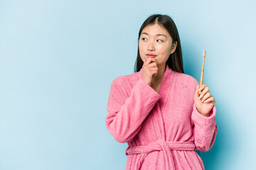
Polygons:
<instances>
[{"instance_id":1,"label":"pink terry sleeve below the hand holding the toothbrush","mask_svg":"<svg viewBox=\"0 0 256 170\"><path fill-rule=\"evenodd\" d=\"M197 86L197 84L196 84ZM194 123L193 134L194 143L196 149L202 152L207 152L213 146L215 142L215 137L218 132L218 126L216 125L216 108L213 106L212 111L210 111L210 116L206 117L201 115L196 109L195 103L193 103L193 112L191 119Z\"/></svg>"}]
</instances>

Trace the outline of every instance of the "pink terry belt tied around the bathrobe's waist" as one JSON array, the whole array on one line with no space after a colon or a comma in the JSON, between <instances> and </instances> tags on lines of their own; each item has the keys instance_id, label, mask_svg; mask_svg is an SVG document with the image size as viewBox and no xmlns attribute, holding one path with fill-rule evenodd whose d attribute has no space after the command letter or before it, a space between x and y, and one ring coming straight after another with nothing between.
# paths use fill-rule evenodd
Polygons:
<instances>
[{"instance_id":1,"label":"pink terry belt tied around the bathrobe's waist","mask_svg":"<svg viewBox=\"0 0 256 170\"><path fill-rule=\"evenodd\" d=\"M127 153L128 150L128 153ZM166 169L175 169L174 159L171 154L171 150L196 150L196 146L193 142L166 142L165 140L157 140L147 146L128 146L125 154L140 154L136 160L136 169L140 169L141 163L147 154L153 151L164 151L164 160L166 163Z\"/></svg>"}]
</instances>

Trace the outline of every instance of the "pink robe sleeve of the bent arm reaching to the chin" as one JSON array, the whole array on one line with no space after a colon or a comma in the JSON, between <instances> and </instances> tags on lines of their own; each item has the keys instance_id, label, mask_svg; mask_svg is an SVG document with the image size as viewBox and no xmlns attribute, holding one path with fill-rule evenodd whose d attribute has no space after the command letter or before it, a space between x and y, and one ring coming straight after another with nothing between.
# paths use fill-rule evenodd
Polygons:
<instances>
[{"instance_id":1,"label":"pink robe sleeve of the bent arm reaching to the chin","mask_svg":"<svg viewBox=\"0 0 256 170\"><path fill-rule=\"evenodd\" d=\"M105 118L107 130L117 142L132 141L160 95L142 79L132 91L127 90L126 77L117 77L111 84ZM130 92L130 93L129 93Z\"/></svg>"}]
</instances>

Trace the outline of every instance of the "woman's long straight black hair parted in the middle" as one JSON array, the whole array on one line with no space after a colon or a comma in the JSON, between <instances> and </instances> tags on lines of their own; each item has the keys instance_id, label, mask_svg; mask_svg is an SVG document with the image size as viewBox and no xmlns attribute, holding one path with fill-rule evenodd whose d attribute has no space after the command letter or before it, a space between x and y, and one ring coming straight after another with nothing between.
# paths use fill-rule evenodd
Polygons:
<instances>
[{"instance_id":1,"label":"woman's long straight black hair parted in the middle","mask_svg":"<svg viewBox=\"0 0 256 170\"><path fill-rule=\"evenodd\" d=\"M144 21L141 28L139 29L139 38L142 33L142 30L149 24L154 24L154 23L158 23L159 25L163 26L171 35L173 42L177 42L176 50L174 53L172 53L169 56L169 59L166 61L166 64L168 64L169 68L171 68L172 70L176 72L184 73L183 60L182 60L182 54L181 54L181 40L178 36L178 29L174 21L171 19L171 17L166 15L161 15L161 14L154 14L152 16L149 16L149 18L146 18L146 21ZM139 38L138 38L138 41L139 41ZM142 69L142 66L143 66L143 61L139 55L139 42L138 42L138 52L137 52L137 59L134 65L134 72L139 72L139 70Z\"/></svg>"}]
</instances>

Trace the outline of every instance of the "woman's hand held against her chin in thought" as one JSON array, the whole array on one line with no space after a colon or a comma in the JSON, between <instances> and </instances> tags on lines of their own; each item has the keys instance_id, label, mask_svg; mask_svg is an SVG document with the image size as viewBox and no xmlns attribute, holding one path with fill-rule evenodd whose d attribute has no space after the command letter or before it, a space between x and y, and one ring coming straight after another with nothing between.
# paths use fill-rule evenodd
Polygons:
<instances>
[{"instance_id":1,"label":"woman's hand held against her chin in thought","mask_svg":"<svg viewBox=\"0 0 256 170\"><path fill-rule=\"evenodd\" d=\"M158 67L156 64L155 58L146 58L144 60L143 66L142 66L142 79L146 82L146 84L149 84L151 86L152 79L156 77L158 72Z\"/></svg>"}]
</instances>

